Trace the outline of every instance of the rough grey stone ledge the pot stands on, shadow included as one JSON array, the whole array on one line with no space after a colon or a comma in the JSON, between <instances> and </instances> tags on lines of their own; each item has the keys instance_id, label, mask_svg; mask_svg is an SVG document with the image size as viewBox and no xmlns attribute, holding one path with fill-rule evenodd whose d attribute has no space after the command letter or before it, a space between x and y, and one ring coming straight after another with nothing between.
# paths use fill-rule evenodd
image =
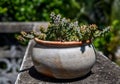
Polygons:
<instances>
[{"instance_id":1,"label":"rough grey stone ledge the pot stands on, shadow included","mask_svg":"<svg viewBox=\"0 0 120 84\"><path fill-rule=\"evenodd\" d=\"M120 67L101 53L97 53L97 61L91 72L82 78L55 79L38 73L31 60L29 43L23 63L15 84L120 84Z\"/></svg>"}]
</instances>

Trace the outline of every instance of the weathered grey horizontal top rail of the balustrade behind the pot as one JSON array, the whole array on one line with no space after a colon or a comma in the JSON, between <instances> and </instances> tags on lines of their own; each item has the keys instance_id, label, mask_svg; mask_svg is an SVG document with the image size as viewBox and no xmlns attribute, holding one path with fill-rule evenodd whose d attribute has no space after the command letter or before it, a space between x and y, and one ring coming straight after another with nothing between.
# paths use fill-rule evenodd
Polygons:
<instances>
[{"instance_id":1,"label":"weathered grey horizontal top rail of the balustrade behind the pot","mask_svg":"<svg viewBox=\"0 0 120 84\"><path fill-rule=\"evenodd\" d=\"M34 25L46 25L46 22L0 22L0 33L29 32Z\"/></svg>"}]
</instances>

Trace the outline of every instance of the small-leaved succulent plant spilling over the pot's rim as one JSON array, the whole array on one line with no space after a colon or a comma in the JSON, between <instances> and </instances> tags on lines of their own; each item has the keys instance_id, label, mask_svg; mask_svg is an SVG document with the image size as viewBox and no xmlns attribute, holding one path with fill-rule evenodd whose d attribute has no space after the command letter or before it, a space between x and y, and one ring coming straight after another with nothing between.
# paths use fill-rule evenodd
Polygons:
<instances>
[{"instance_id":1,"label":"small-leaved succulent plant spilling over the pot's rim","mask_svg":"<svg viewBox=\"0 0 120 84\"><path fill-rule=\"evenodd\" d=\"M95 24L79 25L78 21L71 21L60 14L50 14L50 23L47 29L40 27L39 32L32 31L26 33L21 32L18 36L19 40L39 38L49 41L87 41L94 40L97 37L104 36L109 31L109 27L100 30Z\"/></svg>"}]
</instances>

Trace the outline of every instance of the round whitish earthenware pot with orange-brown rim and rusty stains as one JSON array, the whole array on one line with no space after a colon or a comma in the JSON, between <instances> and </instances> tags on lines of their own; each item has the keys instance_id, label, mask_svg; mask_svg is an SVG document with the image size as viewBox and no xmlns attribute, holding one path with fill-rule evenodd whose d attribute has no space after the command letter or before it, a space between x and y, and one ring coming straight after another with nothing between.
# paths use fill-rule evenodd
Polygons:
<instances>
[{"instance_id":1,"label":"round whitish earthenware pot with orange-brown rim and rusty stains","mask_svg":"<svg viewBox=\"0 0 120 84\"><path fill-rule=\"evenodd\" d=\"M36 70L59 79L82 77L95 63L95 51L91 43L54 42L35 38L32 60Z\"/></svg>"}]
</instances>

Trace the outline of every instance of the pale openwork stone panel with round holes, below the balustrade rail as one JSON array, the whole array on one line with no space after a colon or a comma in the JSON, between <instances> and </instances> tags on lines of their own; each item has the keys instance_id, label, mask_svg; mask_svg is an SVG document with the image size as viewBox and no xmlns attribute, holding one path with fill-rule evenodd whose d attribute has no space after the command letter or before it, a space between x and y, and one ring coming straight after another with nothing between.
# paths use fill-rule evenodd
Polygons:
<instances>
[{"instance_id":1,"label":"pale openwork stone panel with round holes, below the balustrade rail","mask_svg":"<svg viewBox=\"0 0 120 84\"><path fill-rule=\"evenodd\" d=\"M0 46L0 84L15 83L24 52L23 46Z\"/></svg>"}]
</instances>

